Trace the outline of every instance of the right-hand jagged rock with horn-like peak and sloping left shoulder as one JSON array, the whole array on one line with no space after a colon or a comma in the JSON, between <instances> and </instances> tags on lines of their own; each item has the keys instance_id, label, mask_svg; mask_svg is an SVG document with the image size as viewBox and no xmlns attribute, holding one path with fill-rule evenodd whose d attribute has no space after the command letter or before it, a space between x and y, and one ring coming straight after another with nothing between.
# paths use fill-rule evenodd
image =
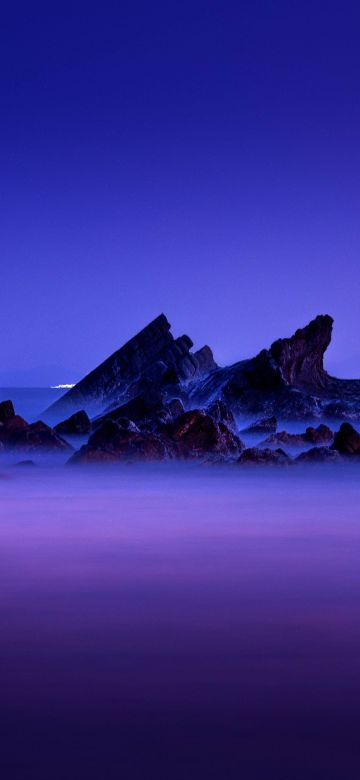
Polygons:
<instances>
[{"instance_id":1,"label":"right-hand jagged rock with horn-like peak and sloping left shoulder","mask_svg":"<svg viewBox=\"0 0 360 780\"><path fill-rule=\"evenodd\" d=\"M304 420L327 410L328 416L360 419L360 380L335 379L324 369L332 325L331 317L319 315L255 358L217 368L191 384L188 403L223 398L236 414Z\"/></svg>"}]
</instances>

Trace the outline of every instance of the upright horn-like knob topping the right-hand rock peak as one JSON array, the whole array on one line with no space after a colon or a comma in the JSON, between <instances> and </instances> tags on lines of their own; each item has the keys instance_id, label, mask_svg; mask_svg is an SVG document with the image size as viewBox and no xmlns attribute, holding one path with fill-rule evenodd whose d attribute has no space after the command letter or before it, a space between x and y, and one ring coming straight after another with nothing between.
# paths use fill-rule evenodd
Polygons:
<instances>
[{"instance_id":1,"label":"upright horn-like knob topping the right-hand rock peak","mask_svg":"<svg viewBox=\"0 0 360 780\"><path fill-rule=\"evenodd\" d=\"M331 341L332 327L332 317L319 314L290 338L274 341L269 352L286 384L324 387L328 381L324 353Z\"/></svg>"}]
</instances>

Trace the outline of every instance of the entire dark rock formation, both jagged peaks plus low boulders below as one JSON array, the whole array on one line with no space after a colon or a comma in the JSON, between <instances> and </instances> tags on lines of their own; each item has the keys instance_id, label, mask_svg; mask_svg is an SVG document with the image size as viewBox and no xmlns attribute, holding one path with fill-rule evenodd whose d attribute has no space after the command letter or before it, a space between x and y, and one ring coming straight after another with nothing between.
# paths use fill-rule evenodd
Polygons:
<instances>
[{"instance_id":1,"label":"entire dark rock formation, both jagged peaks plus low boulders below","mask_svg":"<svg viewBox=\"0 0 360 780\"><path fill-rule=\"evenodd\" d=\"M360 420L360 380L325 371L332 327L331 317L319 315L256 357L221 368L208 346L193 352L188 336L174 338L161 314L46 410L54 427L28 423L3 402L0 448L65 451L73 444L74 463L284 464L357 456L359 434L349 421ZM70 416L63 420L65 413ZM244 415L261 416L240 431L255 437L256 447L245 447L239 436L237 420ZM299 434L278 431L277 418L347 423L336 434L324 423ZM260 443L259 436L265 437Z\"/></svg>"}]
</instances>

